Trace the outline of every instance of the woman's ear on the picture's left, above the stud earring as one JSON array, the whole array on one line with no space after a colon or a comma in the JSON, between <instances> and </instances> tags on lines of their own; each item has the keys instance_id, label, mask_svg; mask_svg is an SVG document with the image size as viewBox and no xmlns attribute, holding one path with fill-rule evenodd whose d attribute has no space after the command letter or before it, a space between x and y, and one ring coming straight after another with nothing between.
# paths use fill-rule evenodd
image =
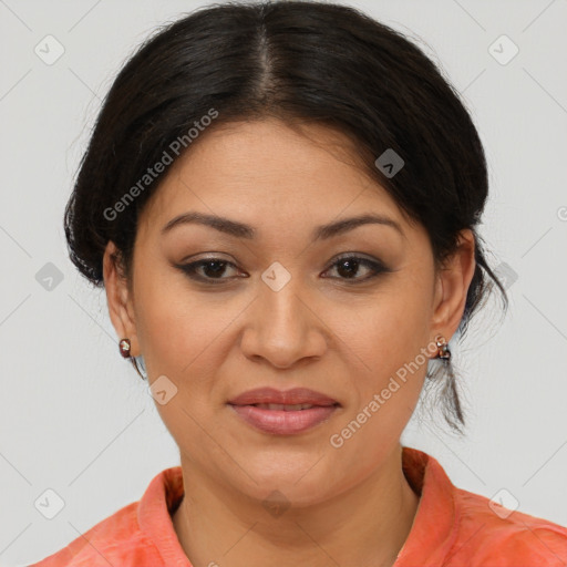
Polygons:
<instances>
[{"instance_id":1,"label":"woman's ear on the picture's left, above the stud earring","mask_svg":"<svg viewBox=\"0 0 567 567\"><path fill-rule=\"evenodd\" d=\"M134 301L126 278L120 269L118 258L120 252L115 244L109 240L103 257L103 277L109 313L118 339L130 339L131 355L138 357L141 352L136 333Z\"/></svg>"}]
</instances>

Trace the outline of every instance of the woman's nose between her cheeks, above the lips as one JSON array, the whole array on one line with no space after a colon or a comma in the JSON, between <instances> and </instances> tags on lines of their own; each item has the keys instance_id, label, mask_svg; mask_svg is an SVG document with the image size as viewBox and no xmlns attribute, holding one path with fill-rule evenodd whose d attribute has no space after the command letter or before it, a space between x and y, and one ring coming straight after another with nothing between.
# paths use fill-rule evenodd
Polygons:
<instances>
[{"instance_id":1,"label":"woman's nose between her cheeks, above the lips","mask_svg":"<svg viewBox=\"0 0 567 567\"><path fill-rule=\"evenodd\" d=\"M240 348L251 360L287 369L323 355L330 341L322 308L293 278L276 290L264 282L246 310Z\"/></svg>"}]
</instances>

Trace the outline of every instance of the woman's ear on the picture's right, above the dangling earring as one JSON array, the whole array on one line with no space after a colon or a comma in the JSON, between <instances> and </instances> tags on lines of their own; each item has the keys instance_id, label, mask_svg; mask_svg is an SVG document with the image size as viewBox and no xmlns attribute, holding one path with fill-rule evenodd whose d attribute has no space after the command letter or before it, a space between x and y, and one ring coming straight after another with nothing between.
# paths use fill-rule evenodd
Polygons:
<instances>
[{"instance_id":1,"label":"woman's ear on the picture's right, above the dangling earring","mask_svg":"<svg viewBox=\"0 0 567 567\"><path fill-rule=\"evenodd\" d=\"M475 239L471 229L460 233L458 247L440 269L435 284L432 330L449 342L465 309L466 295L476 268Z\"/></svg>"}]
</instances>

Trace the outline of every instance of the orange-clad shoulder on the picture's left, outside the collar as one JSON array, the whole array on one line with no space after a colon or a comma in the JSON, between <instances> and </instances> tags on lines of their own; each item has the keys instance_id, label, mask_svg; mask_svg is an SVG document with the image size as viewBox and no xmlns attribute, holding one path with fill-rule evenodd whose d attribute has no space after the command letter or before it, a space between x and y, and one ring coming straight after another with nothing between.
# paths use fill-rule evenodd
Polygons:
<instances>
[{"instance_id":1,"label":"orange-clad shoulder on the picture's left, outside the collar","mask_svg":"<svg viewBox=\"0 0 567 567\"><path fill-rule=\"evenodd\" d=\"M29 567L134 567L140 559L154 559L153 545L137 523L138 502L99 522L66 547ZM159 557L155 557L155 565Z\"/></svg>"}]
</instances>

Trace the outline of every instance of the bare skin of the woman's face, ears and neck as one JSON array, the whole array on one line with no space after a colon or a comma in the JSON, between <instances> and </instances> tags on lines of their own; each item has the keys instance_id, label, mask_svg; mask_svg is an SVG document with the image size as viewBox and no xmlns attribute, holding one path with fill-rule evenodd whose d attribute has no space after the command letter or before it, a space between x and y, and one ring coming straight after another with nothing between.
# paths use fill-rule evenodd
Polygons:
<instances>
[{"instance_id":1,"label":"bare skin of the woman's face, ears and neck","mask_svg":"<svg viewBox=\"0 0 567 567\"><path fill-rule=\"evenodd\" d=\"M458 250L435 272L425 230L346 158L340 148L348 141L323 126L306 132L274 118L209 128L143 209L133 281L121 276L112 241L104 255L118 338L131 339L133 355L143 354L151 383L166 375L177 388L156 408L179 446L185 497L173 525L196 567L298 558L312 567L391 566L417 509L400 436L426 363L340 449L329 439L437 334L449 341L456 331L475 267L474 237L463 230ZM159 234L188 210L249 224L256 236L197 224ZM310 236L316 226L369 212L395 219L403 236L379 224L328 240ZM349 272L336 264L343 252L391 271L353 284L349 274L361 281L373 271L360 265ZM174 266L209 256L234 265L199 268L212 284ZM275 261L291 276L279 291L261 279ZM271 435L227 405L260 385L311 388L341 406L307 432ZM278 516L264 506L272 491L289 504Z\"/></svg>"}]
</instances>

